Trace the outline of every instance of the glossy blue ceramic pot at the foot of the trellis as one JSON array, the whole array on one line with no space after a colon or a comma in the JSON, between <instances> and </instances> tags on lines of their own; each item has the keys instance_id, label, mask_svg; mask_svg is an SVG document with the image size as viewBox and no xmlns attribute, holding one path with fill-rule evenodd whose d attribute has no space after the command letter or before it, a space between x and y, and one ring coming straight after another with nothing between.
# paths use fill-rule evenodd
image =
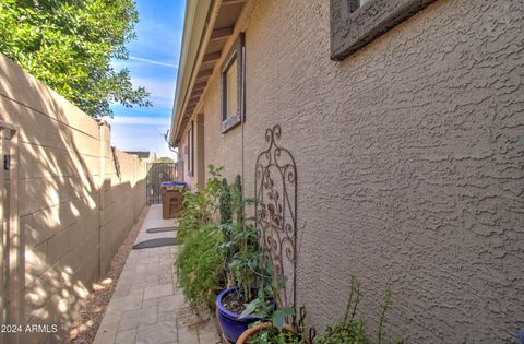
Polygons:
<instances>
[{"instance_id":1,"label":"glossy blue ceramic pot at the foot of the trellis","mask_svg":"<svg viewBox=\"0 0 524 344\"><path fill-rule=\"evenodd\" d=\"M218 294L218 297L216 298L216 319L218 319L218 323L221 324L222 332L226 336L226 340L231 343L237 342L238 337L248 329L250 323L260 320L260 318L251 316L239 319L240 315L227 310L224 305L222 305L222 299L227 294L238 289L240 289L240 287L227 288Z\"/></svg>"}]
</instances>

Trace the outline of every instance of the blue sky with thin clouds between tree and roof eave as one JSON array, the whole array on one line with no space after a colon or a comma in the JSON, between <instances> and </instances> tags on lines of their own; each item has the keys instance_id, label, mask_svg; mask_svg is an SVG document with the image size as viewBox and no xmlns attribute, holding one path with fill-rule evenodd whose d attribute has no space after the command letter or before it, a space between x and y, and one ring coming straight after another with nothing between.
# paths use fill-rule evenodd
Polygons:
<instances>
[{"instance_id":1,"label":"blue sky with thin clouds between tree and roof eave","mask_svg":"<svg viewBox=\"0 0 524 344\"><path fill-rule=\"evenodd\" d=\"M155 151L175 157L164 141L170 126L178 58L183 29L184 0L138 0L138 38L128 44L129 60L114 61L128 68L134 86L144 86L153 107L112 105L111 145L123 151Z\"/></svg>"}]
</instances>

